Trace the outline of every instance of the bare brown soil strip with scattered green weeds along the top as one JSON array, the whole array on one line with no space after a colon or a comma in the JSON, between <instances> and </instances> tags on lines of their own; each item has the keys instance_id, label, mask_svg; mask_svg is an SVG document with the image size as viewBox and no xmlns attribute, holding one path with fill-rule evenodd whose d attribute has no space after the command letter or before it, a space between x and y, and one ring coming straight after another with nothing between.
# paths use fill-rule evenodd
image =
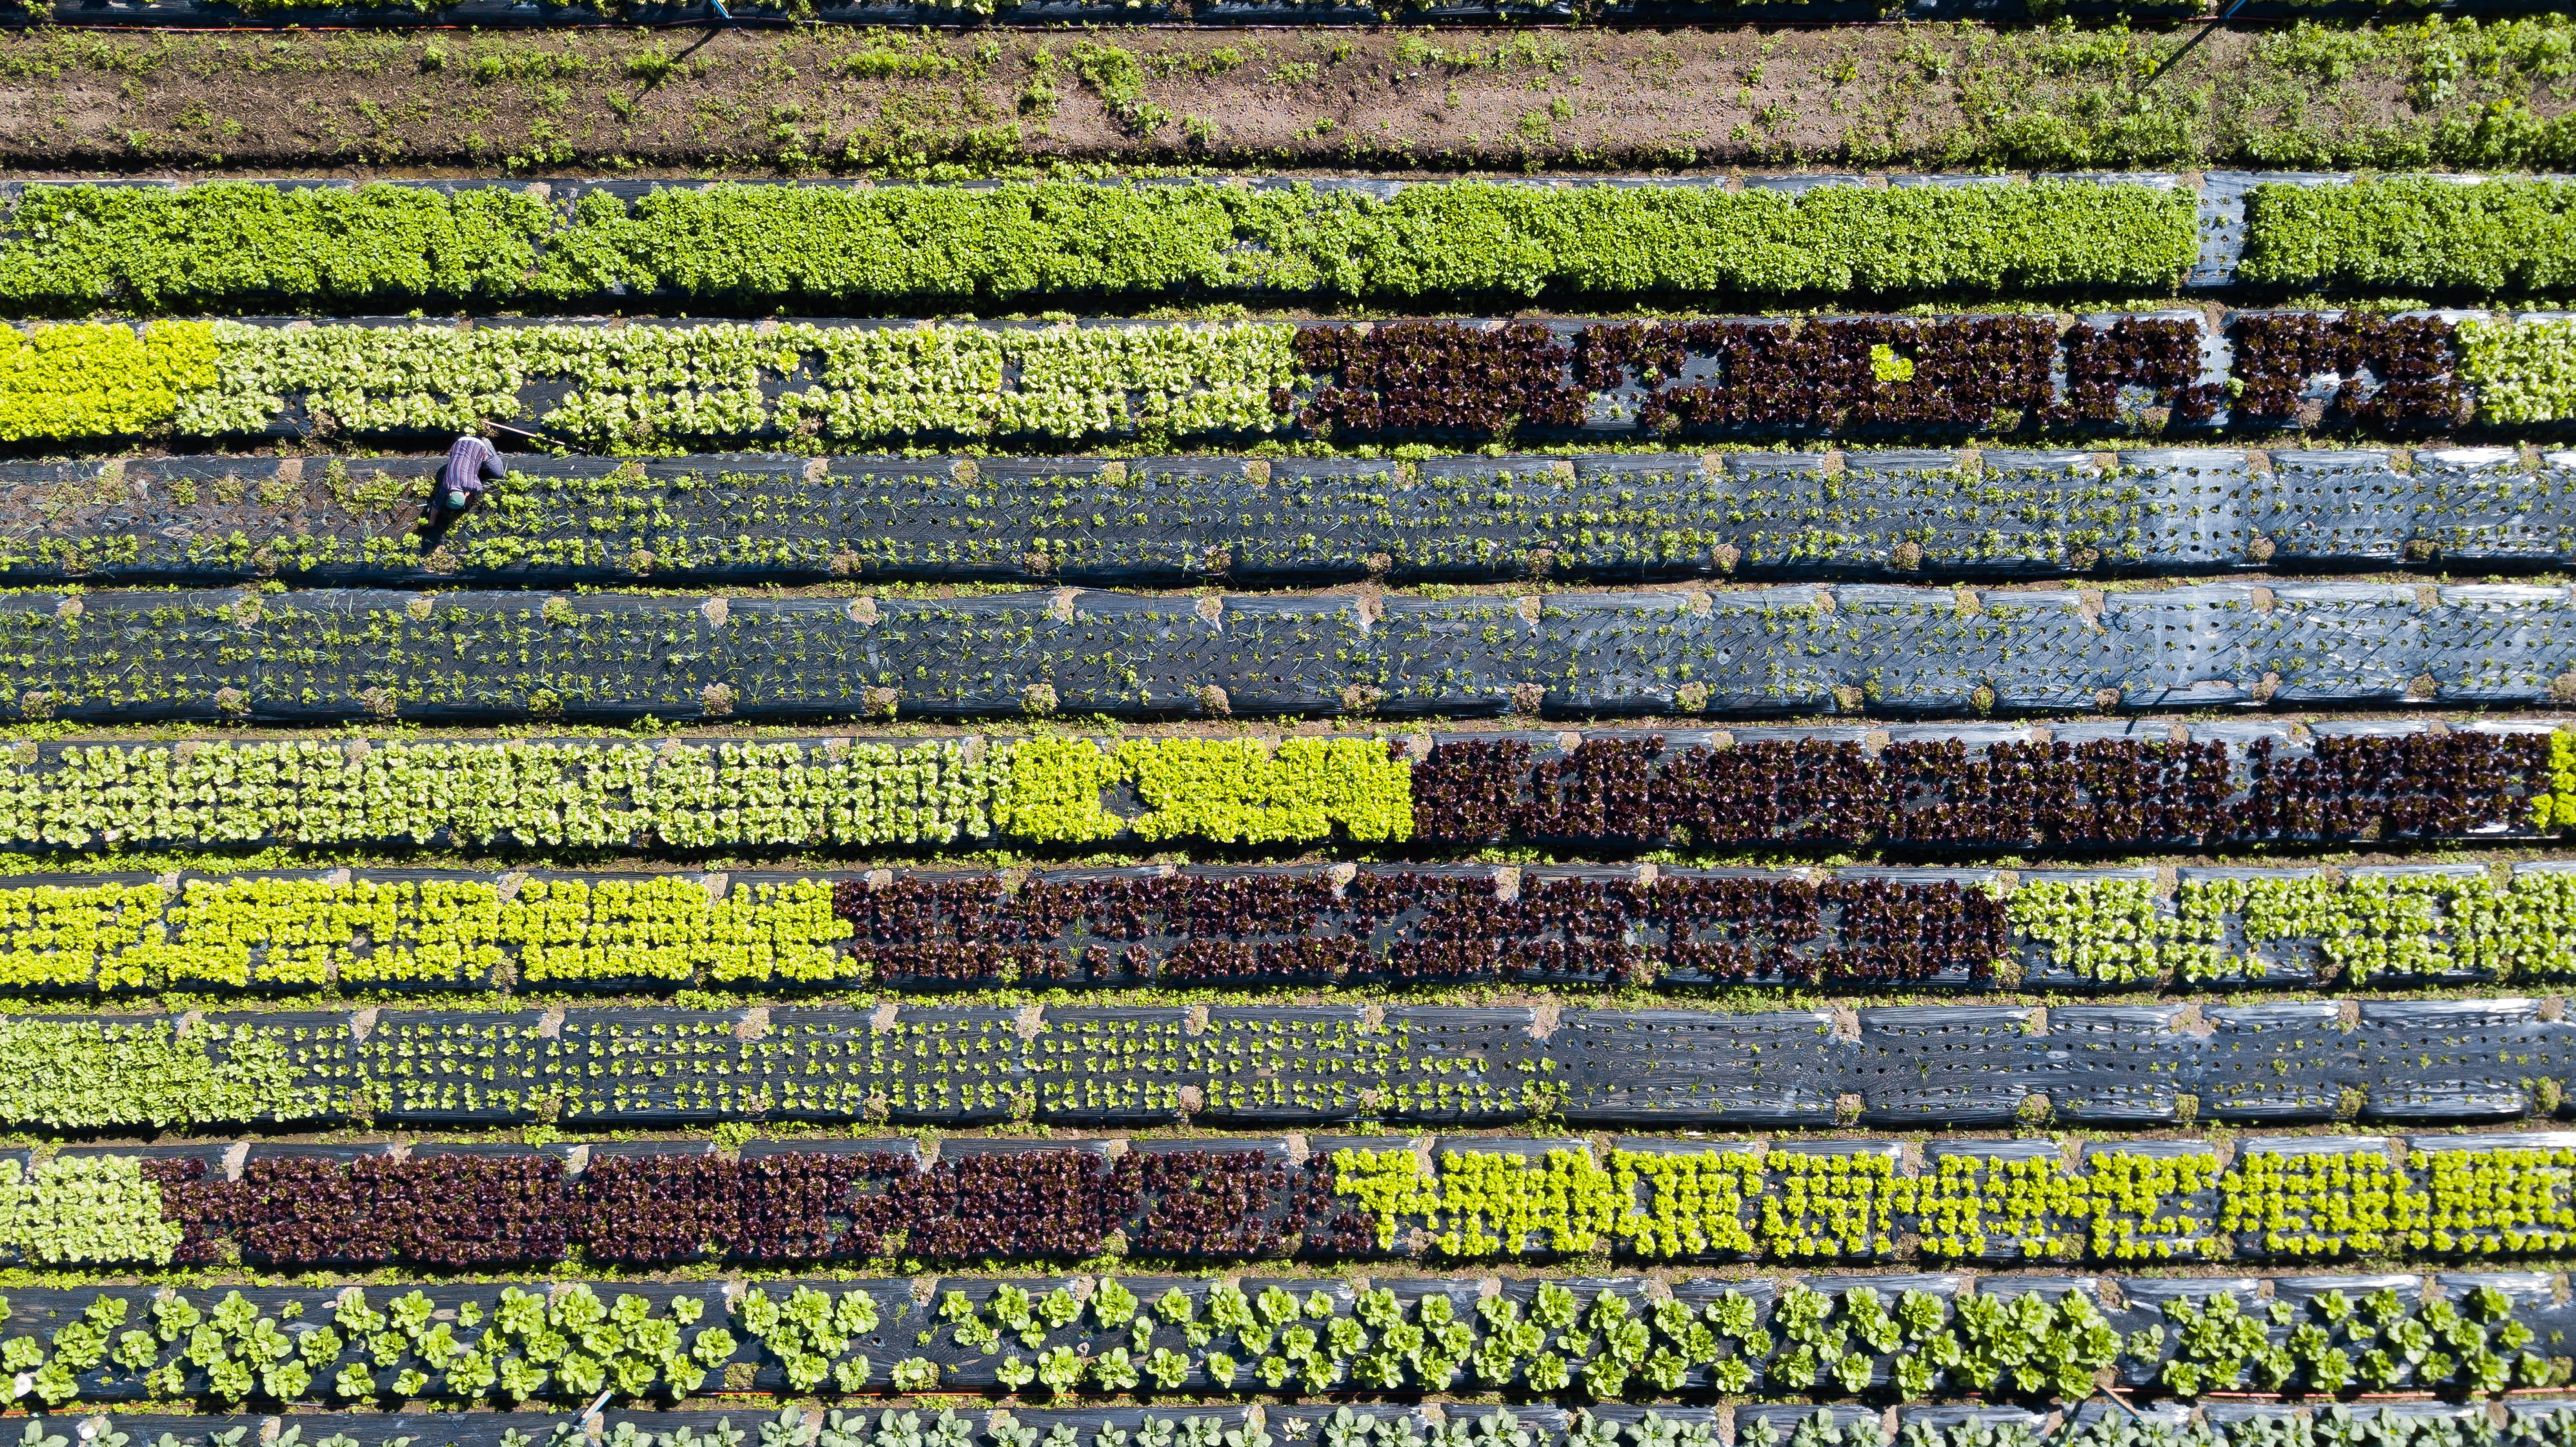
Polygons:
<instances>
[{"instance_id":1,"label":"bare brown soil strip with scattered green weeds along the top","mask_svg":"<svg viewBox=\"0 0 2576 1447\"><path fill-rule=\"evenodd\" d=\"M2566 108L2522 67L2548 70L2540 41L2563 46L2563 21L2514 26L2537 41L2504 44L2491 26L2468 80L2432 85L2419 31L2215 31L2184 49L2195 26L54 31L0 39L0 165L36 178L2424 165L2468 144L2463 126L2439 139L2445 116L2496 98Z\"/></svg>"}]
</instances>

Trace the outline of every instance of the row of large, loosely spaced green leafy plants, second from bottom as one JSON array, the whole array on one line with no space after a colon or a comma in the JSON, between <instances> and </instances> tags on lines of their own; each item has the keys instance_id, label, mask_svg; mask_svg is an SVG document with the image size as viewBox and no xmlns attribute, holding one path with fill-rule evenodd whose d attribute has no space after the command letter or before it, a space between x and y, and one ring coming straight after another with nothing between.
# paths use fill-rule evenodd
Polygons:
<instances>
[{"instance_id":1,"label":"row of large, loosely spaced green leafy plants, second from bottom","mask_svg":"<svg viewBox=\"0 0 2576 1447\"><path fill-rule=\"evenodd\" d=\"M2424 1277L1489 1287L951 1277L927 1300L909 1280L23 1290L8 1298L13 1336L0 1352L21 1372L13 1393L49 1408L142 1396L515 1403L889 1385L1059 1398L1502 1388L1574 1401L1713 1390L2048 1403L2092 1396L2105 1370L2182 1401L2228 1388L2476 1398L2566 1380L2555 1352L2568 1316L2550 1277L2532 1274L2445 1277L2442 1295L2427 1295Z\"/></svg>"}]
</instances>

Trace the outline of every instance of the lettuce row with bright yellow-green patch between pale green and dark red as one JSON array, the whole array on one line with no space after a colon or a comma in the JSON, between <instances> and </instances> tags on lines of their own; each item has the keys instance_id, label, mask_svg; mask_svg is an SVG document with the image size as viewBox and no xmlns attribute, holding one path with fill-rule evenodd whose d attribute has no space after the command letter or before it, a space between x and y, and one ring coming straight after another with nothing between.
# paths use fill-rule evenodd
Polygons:
<instances>
[{"instance_id":1,"label":"lettuce row with bright yellow-green patch between pale green and dark red","mask_svg":"<svg viewBox=\"0 0 2576 1447\"><path fill-rule=\"evenodd\" d=\"M21 742L0 845L832 850L1108 839L2192 847L2576 824L2548 724L1386 739Z\"/></svg>"}]
</instances>

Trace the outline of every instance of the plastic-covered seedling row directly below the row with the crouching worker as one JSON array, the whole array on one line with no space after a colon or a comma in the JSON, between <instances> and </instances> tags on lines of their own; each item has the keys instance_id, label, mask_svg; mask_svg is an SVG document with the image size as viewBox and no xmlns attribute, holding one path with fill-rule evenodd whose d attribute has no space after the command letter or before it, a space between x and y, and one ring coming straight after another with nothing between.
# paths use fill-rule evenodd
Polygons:
<instances>
[{"instance_id":1,"label":"plastic-covered seedling row directly below the row with the crouching worker","mask_svg":"<svg viewBox=\"0 0 2576 1447\"><path fill-rule=\"evenodd\" d=\"M2576 600L2563 584L0 600L10 718L2035 713L2566 698Z\"/></svg>"}]
</instances>

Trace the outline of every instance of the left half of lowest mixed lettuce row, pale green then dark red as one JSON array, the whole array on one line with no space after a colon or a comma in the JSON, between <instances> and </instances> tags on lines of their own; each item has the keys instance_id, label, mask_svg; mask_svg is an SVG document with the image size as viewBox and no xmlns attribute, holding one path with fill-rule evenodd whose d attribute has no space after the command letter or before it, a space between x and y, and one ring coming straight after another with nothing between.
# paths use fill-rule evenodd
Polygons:
<instances>
[{"instance_id":1,"label":"left half of lowest mixed lettuce row, pale green then dark red","mask_svg":"<svg viewBox=\"0 0 2576 1447\"><path fill-rule=\"evenodd\" d=\"M909 1141L835 1141L719 1159L703 1143L250 1148L0 1161L5 1241L46 1267L399 1264L484 1272L595 1262L866 1262L1097 1256L1123 1233L1144 1256L1275 1256L1306 1197L1329 1192L1273 1148L1231 1141L981 1151L922 1164ZM564 1164L587 1156L577 1177Z\"/></svg>"}]
</instances>

